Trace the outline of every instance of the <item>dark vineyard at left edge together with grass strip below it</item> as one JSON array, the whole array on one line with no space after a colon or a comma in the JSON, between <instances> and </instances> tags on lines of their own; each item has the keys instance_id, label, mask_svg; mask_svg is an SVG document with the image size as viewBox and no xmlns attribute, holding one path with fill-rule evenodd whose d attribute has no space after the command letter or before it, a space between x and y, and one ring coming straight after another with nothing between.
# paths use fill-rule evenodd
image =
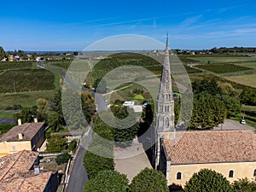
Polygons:
<instances>
[{"instance_id":1,"label":"dark vineyard at left edge together with grass strip below it","mask_svg":"<svg viewBox=\"0 0 256 192\"><path fill-rule=\"evenodd\" d=\"M0 109L32 107L38 98L53 97L59 76L38 68L36 61L0 62Z\"/></svg>"}]
</instances>

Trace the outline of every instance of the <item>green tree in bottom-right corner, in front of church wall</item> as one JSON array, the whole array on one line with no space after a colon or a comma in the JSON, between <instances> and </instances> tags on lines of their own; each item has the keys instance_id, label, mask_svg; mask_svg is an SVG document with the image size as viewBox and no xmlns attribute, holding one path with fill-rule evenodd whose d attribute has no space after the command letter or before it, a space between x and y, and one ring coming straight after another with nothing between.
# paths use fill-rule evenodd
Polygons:
<instances>
[{"instance_id":1,"label":"green tree in bottom-right corner, in front of church wall","mask_svg":"<svg viewBox=\"0 0 256 192\"><path fill-rule=\"evenodd\" d=\"M232 183L234 192L255 192L256 191L256 178L250 181L246 178L239 178L238 181Z\"/></svg>"}]
</instances>

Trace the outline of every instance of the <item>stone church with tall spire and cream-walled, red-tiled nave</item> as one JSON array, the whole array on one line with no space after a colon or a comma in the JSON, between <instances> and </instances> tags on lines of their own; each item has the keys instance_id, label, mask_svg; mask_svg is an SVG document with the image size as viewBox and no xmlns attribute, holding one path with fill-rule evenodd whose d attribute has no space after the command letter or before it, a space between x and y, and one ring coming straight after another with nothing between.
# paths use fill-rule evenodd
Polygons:
<instances>
[{"instance_id":1,"label":"stone church with tall spire and cream-walled, red-tiled nave","mask_svg":"<svg viewBox=\"0 0 256 192\"><path fill-rule=\"evenodd\" d=\"M166 175L168 185L184 186L203 168L221 173L230 182L256 177L256 137L252 130L177 131L168 38L156 103L155 167Z\"/></svg>"}]
</instances>

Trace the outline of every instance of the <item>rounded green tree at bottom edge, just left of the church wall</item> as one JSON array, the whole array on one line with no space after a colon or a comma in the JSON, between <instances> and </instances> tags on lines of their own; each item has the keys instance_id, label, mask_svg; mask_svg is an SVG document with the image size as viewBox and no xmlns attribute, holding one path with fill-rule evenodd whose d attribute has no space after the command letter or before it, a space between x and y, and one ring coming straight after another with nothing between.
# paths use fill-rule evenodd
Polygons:
<instances>
[{"instance_id":1,"label":"rounded green tree at bottom edge, just left of the church wall","mask_svg":"<svg viewBox=\"0 0 256 192\"><path fill-rule=\"evenodd\" d=\"M130 185L131 192L168 192L166 177L162 172L145 168L133 177Z\"/></svg>"}]
</instances>

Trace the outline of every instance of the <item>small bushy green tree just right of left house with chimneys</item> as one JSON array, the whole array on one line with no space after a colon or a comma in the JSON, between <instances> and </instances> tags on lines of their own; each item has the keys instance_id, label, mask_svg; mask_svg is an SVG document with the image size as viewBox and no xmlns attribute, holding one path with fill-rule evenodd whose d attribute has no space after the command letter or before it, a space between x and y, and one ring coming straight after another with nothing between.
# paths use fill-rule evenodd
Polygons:
<instances>
[{"instance_id":1,"label":"small bushy green tree just right of left house with chimneys","mask_svg":"<svg viewBox=\"0 0 256 192\"><path fill-rule=\"evenodd\" d=\"M46 151L50 153L60 153L67 148L67 138L60 135L49 137L46 144Z\"/></svg>"}]
</instances>

